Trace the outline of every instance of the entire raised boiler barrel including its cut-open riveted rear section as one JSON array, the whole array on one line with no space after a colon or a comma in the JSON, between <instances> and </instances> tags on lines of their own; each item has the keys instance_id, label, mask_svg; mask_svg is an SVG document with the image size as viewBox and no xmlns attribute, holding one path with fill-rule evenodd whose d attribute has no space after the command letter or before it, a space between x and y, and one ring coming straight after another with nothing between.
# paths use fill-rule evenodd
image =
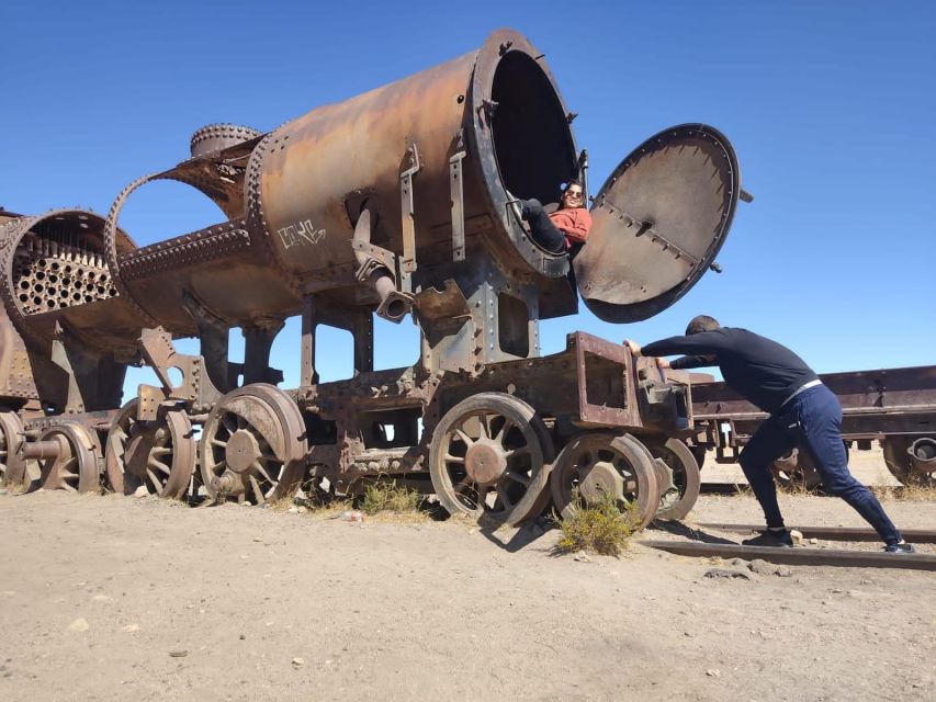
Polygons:
<instances>
[{"instance_id":1,"label":"entire raised boiler barrel including its cut-open riveted rear section","mask_svg":"<svg viewBox=\"0 0 936 702\"><path fill-rule=\"evenodd\" d=\"M442 287L458 278L451 270L455 179L463 193L463 271L477 256L493 254L508 275L560 278L568 271L567 257L532 241L509 210L508 191L559 199L561 183L577 169L566 115L542 55L501 30L476 52L317 107L262 138L225 127L232 138L218 143L221 150L198 150L128 186L114 203L111 226L129 193L163 178L198 188L230 220L113 253L109 262L119 288L146 310L147 324L177 335L194 333L180 305L184 295L244 327L298 314L306 294L366 306L374 295L356 278L360 262L351 246L361 208L374 214L370 244L415 260L407 292ZM196 136L215 132L206 127ZM411 251L403 242L407 170Z\"/></svg>"}]
</instances>

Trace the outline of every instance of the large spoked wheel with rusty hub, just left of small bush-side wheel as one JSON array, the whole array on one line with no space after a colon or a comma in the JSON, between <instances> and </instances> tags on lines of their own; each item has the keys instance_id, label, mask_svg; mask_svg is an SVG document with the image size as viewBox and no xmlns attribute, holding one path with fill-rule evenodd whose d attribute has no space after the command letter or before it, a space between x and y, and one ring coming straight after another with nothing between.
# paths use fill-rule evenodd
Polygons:
<instances>
[{"instance_id":1,"label":"large spoked wheel with rusty hub, just left of small bush-side wheel","mask_svg":"<svg viewBox=\"0 0 936 702\"><path fill-rule=\"evenodd\" d=\"M549 499L552 439L532 407L481 393L452 407L432 433L429 473L450 514L517 524Z\"/></svg>"}]
</instances>

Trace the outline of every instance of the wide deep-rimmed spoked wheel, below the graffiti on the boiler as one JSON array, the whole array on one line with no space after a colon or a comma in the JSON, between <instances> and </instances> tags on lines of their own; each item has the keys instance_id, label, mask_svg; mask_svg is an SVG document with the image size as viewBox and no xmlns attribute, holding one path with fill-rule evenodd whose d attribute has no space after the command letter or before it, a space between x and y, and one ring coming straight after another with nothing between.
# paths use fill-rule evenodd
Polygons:
<instances>
[{"instance_id":1,"label":"wide deep-rimmed spoked wheel, below the graffiti on the boiler","mask_svg":"<svg viewBox=\"0 0 936 702\"><path fill-rule=\"evenodd\" d=\"M305 422L280 388L253 383L221 398L202 429L202 478L214 499L263 505L295 491L307 453Z\"/></svg>"}]
</instances>

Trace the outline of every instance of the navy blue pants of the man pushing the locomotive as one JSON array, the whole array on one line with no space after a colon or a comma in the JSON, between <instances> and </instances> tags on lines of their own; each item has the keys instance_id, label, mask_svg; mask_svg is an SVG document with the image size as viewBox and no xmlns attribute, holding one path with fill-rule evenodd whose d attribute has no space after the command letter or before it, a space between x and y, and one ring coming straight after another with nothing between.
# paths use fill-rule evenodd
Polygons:
<instances>
[{"instance_id":1,"label":"navy blue pants of the man pushing the locomotive","mask_svg":"<svg viewBox=\"0 0 936 702\"><path fill-rule=\"evenodd\" d=\"M878 498L848 472L848 455L842 443L842 405L825 385L803 390L771 415L738 456L768 528L783 526L770 464L793 446L813 460L825 489L854 507L884 543L901 541Z\"/></svg>"}]
</instances>

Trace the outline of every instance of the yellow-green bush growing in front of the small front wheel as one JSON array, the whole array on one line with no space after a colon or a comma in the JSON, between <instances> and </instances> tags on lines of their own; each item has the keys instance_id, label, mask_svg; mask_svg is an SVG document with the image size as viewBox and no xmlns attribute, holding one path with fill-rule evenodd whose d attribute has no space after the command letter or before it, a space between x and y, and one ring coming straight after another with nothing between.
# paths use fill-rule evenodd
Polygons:
<instances>
[{"instance_id":1,"label":"yellow-green bush growing in front of the small front wheel","mask_svg":"<svg viewBox=\"0 0 936 702\"><path fill-rule=\"evenodd\" d=\"M554 550L556 553L589 551L618 556L640 523L636 509L636 502L630 502L622 511L611 495L604 494L597 503L579 507L570 519L560 522L562 536Z\"/></svg>"}]
</instances>

